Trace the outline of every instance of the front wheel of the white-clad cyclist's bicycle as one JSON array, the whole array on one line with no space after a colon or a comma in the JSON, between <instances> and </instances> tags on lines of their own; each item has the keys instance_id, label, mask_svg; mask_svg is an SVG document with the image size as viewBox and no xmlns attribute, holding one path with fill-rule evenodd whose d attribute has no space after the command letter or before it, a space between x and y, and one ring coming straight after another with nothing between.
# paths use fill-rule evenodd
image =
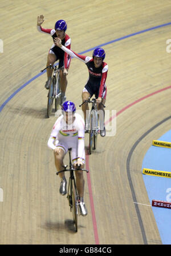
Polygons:
<instances>
[{"instance_id":1,"label":"front wheel of the white-clad cyclist's bicycle","mask_svg":"<svg viewBox=\"0 0 171 256\"><path fill-rule=\"evenodd\" d=\"M75 231L78 231L78 205L76 200L76 189L74 179L71 180L71 195L72 195L72 215L74 220Z\"/></svg>"}]
</instances>

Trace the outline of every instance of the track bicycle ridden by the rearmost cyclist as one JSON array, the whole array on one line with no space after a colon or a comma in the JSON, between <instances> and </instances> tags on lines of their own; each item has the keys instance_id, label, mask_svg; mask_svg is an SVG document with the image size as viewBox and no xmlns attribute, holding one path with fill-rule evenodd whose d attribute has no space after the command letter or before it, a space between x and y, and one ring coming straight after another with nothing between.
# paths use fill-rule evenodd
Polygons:
<instances>
[{"instance_id":1,"label":"track bicycle ridden by the rearmost cyclist","mask_svg":"<svg viewBox=\"0 0 171 256\"><path fill-rule=\"evenodd\" d=\"M50 89L48 90L48 101L47 101L47 117L49 118L52 112L53 102L55 99L55 112L59 109L59 105L62 105L62 95L61 95L61 89L60 89L60 77L59 77L59 71L60 68L58 68L56 65L47 66L40 72L43 72L47 68L53 69L52 79L51 79L51 85Z\"/></svg>"}]
</instances>

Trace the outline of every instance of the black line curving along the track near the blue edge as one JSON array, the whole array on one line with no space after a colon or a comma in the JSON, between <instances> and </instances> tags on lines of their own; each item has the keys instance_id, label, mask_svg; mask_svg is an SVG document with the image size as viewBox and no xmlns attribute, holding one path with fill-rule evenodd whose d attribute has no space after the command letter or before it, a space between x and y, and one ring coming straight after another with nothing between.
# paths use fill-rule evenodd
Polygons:
<instances>
[{"instance_id":1,"label":"black line curving along the track near the blue edge","mask_svg":"<svg viewBox=\"0 0 171 256\"><path fill-rule=\"evenodd\" d=\"M171 116L166 117L165 119L163 119L162 121L160 121L159 123L157 123L156 125L154 125L152 128L150 128L148 131L146 131L136 142L135 144L133 144L133 147L131 148L131 150L129 151L128 154L128 158L127 158L127 175L128 175L128 180L129 180L129 186L131 188L131 192L132 192L132 198L133 198L133 202L137 203L137 199L136 199L136 194L135 194L135 190L133 188L133 184L132 184L132 179L131 179L131 173L130 173L130 162L131 162L131 157L133 154L133 151L135 150L135 148L137 147L137 145L140 143L141 140L144 139L144 137L146 135L148 135L150 132L152 132L154 129L156 129L159 125L165 123L165 121L168 121L169 119L171 119ZM135 203L135 208L136 208L136 212L137 212L137 217L139 219L139 224L140 224L140 229L141 229L141 233L143 236L143 241L145 245L148 245L147 239L146 239L146 234L145 234L145 230L144 230L144 225L143 225L143 220L141 219L141 214L140 214L140 210L139 210L139 205Z\"/></svg>"}]
</instances>

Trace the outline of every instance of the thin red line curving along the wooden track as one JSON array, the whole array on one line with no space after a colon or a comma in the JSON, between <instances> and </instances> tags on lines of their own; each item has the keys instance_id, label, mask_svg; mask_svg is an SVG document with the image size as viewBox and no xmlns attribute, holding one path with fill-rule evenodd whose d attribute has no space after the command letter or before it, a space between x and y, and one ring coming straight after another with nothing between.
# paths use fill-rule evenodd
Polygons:
<instances>
[{"instance_id":1,"label":"thin red line curving along the wooden track","mask_svg":"<svg viewBox=\"0 0 171 256\"><path fill-rule=\"evenodd\" d=\"M112 119L114 119L116 116L119 116L121 113L123 113L125 110L127 110L128 108L131 108L133 105L139 103L142 100L147 99L150 96L153 96L154 94L163 92L164 90L170 89L171 85L168 87L165 87L163 89L160 90L156 90L156 92L152 92L150 94L147 94L146 96L140 98L139 100L134 101L133 103L127 105L126 107L122 108L119 112L116 113L116 115L112 116L109 120L105 121L105 124L108 124L110 121L112 121ZM86 169L89 170L89 155L86 154ZM89 190L89 200L90 200L90 206L91 206L91 215L92 215L92 222L93 222L93 231L94 231L94 235L95 235L95 243L96 245L99 245L99 235L98 235L98 231L97 231L97 222L96 222L96 215L95 215L95 207L94 207L94 203L93 203L93 196L92 196L92 188L91 188L91 179L90 179L90 175L89 172L87 174L87 183L88 183L88 190Z\"/></svg>"}]
</instances>

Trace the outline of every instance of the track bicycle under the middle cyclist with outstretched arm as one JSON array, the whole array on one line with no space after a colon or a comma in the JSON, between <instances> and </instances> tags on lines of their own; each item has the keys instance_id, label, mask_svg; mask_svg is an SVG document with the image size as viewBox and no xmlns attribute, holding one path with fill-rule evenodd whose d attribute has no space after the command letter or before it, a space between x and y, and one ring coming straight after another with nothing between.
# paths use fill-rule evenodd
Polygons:
<instances>
[{"instance_id":1,"label":"track bicycle under the middle cyclist with outstretched arm","mask_svg":"<svg viewBox=\"0 0 171 256\"><path fill-rule=\"evenodd\" d=\"M97 111L96 98L90 100L85 100L79 107L81 107L84 103L91 103L91 111L88 114L88 133L89 133L89 155L91 155L92 150L95 150L97 147L97 135L100 133L100 125L99 125L99 117L100 112ZM105 108L105 105L101 103ZM99 115L99 117L98 117ZM103 116L104 119L104 116Z\"/></svg>"}]
</instances>

